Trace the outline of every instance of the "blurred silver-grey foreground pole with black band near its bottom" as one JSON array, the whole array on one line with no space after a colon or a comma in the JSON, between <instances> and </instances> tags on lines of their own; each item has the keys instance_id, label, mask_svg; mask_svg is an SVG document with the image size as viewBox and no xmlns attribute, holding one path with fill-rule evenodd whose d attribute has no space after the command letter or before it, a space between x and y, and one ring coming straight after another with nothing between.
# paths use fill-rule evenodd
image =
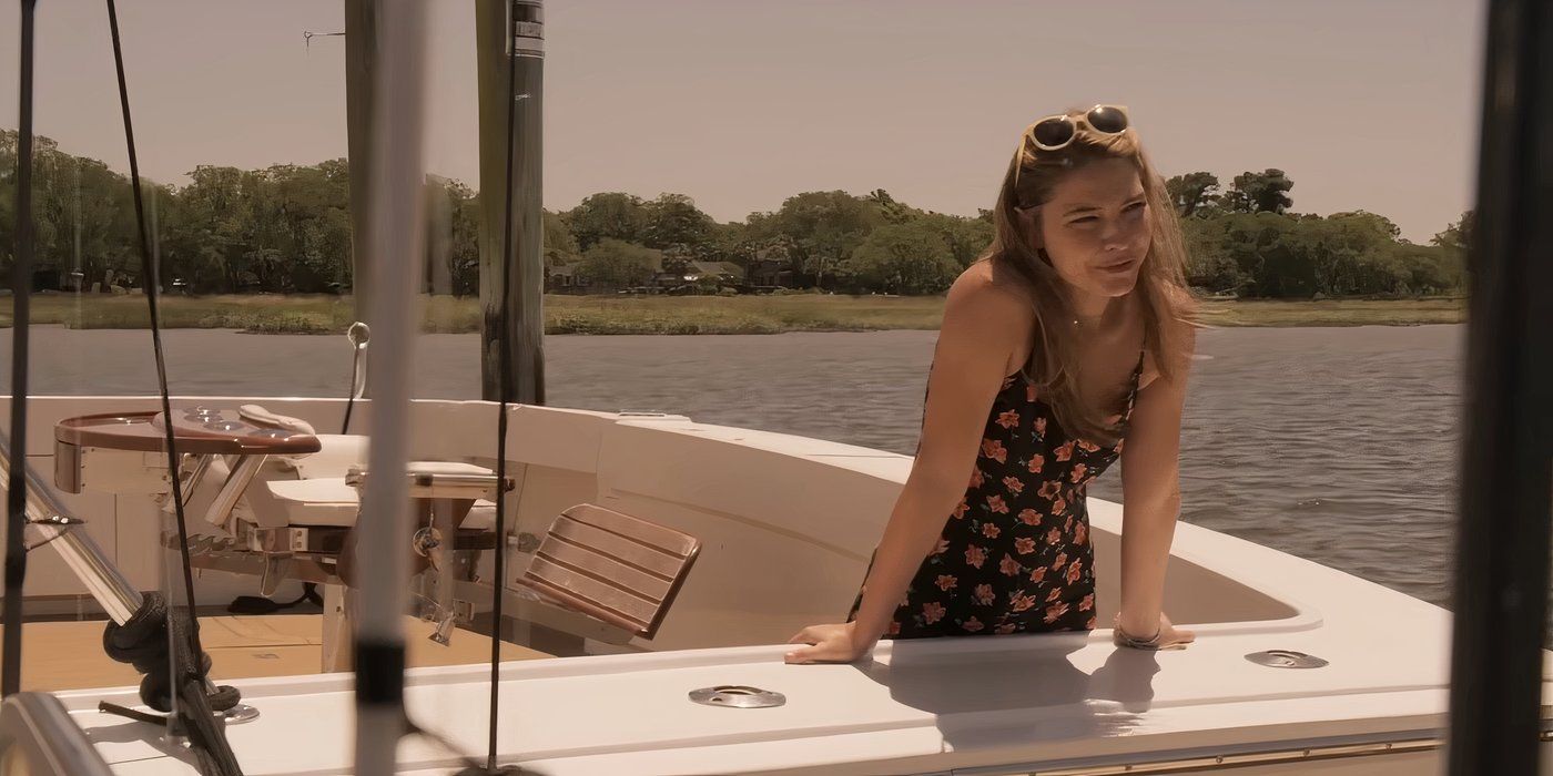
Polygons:
<instances>
[{"instance_id":1,"label":"blurred silver-grey foreground pole with black band near its bottom","mask_svg":"<svg viewBox=\"0 0 1553 776\"><path fill-rule=\"evenodd\" d=\"M416 290L424 265L421 143L426 120L426 6L377 0L377 51L370 127L367 245L373 264L365 298L379 352L368 362L373 431L359 525L360 616L356 632L356 773L394 771L404 711L404 611L408 588L410 377ZM349 39L349 36L346 36ZM401 421L401 422L396 422Z\"/></svg>"}]
</instances>

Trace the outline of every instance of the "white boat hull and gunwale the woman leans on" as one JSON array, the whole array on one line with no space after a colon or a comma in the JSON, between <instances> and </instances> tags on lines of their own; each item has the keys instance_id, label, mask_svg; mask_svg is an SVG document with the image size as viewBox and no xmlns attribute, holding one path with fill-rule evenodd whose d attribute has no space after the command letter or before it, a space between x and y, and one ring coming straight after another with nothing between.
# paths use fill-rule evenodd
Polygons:
<instances>
[{"instance_id":1,"label":"white boat hull and gunwale the woman leans on","mask_svg":"<svg viewBox=\"0 0 1553 776\"><path fill-rule=\"evenodd\" d=\"M256 400L320 428L337 424L343 408L320 399L200 400ZM30 461L50 470L50 433L59 417L151 402L33 399ZM410 419L415 453L489 456L494 411L483 402L418 402ZM1438 768L1451 618L1432 604L1183 523L1165 608L1197 632L1185 650L1118 650L1109 630L1096 630L882 641L871 663L789 666L783 653L794 632L845 615L910 458L680 416L512 411L508 456L522 478L519 531L542 532L561 509L592 501L697 535L702 556L660 635L629 646L651 653L503 664L502 762L567 776L1098 774L1193 762L1200 770L1173 773L1230 765L1236 774ZM360 433L370 433L365 414ZM149 501L90 494L65 501L92 520L134 580L157 587L155 553L148 551L155 546L157 511ZM1090 500L1090 523L1104 624L1118 591L1120 506ZM30 591L79 594L61 579L62 568L43 560L34 571L39 582ZM1264 650L1295 650L1328 664L1286 669L1247 660ZM483 666L412 670L410 711L464 753L483 753L486 678ZM1553 672L1544 678L1553 697L1550 683ZM235 684L261 711L256 722L228 729L245 773L349 771L349 675ZM736 709L688 698L719 684L775 691L786 703ZM61 698L113 773L194 773L160 748L151 726L95 711L99 700L138 703L132 691ZM404 742L399 762L402 773L457 765L421 740Z\"/></svg>"}]
</instances>

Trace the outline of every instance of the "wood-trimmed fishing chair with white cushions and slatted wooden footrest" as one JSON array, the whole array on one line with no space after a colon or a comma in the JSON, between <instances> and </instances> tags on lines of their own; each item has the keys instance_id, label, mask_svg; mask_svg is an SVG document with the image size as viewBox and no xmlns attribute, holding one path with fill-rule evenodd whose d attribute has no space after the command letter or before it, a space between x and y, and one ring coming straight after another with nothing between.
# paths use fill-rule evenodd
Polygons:
<instances>
[{"instance_id":1,"label":"wood-trimmed fishing chair with white cushions and slatted wooden footrest","mask_svg":"<svg viewBox=\"0 0 1553 776\"><path fill-rule=\"evenodd\" d=\"M343 669L343 619L353 580L360 492L373 475L367 438L320 435L261 405L174 408L172 436L196 568L258 577L272 596L287 579L325 585L325 669ZM172 512L168 421L158 411L65 417L54 427L54 484L65 492L144 495ZM446 644L457 622L491 601L481 554L495 535L495 503L511 476L469 461L413 461L408 478L413 599ZM511 504L509 504L511 509ZM511 529L509 529L511 532ZM175 532L163 532L177 546ZM503 587L503 608L523 621L610 644L651 639L699 551L679 531L595 504L554 520L533 560Z\"/></svg>"}]
</instances>

